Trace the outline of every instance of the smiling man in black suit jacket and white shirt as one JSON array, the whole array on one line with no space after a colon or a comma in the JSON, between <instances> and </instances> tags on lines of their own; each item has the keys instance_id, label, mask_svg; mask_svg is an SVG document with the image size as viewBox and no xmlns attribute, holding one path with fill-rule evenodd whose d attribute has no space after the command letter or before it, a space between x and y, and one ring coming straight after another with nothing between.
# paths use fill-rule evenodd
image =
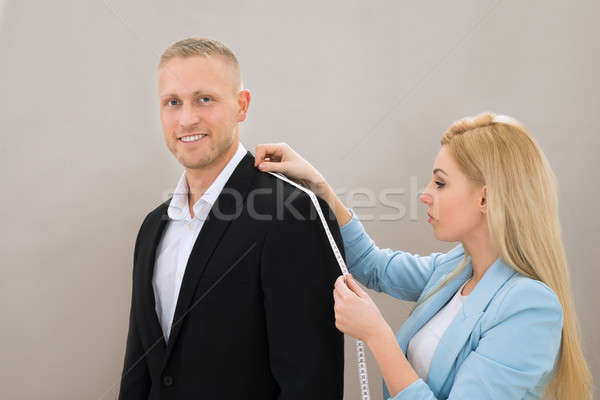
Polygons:
<instances>
[{"instance_id":1,"label":"smiling man in black suit jacket and white shirt","mask_svg":"<svg viewBox=\"0 0 600 400\"><path fill-rule=\"evenodd\" d=\"M119 399L341 399L339 267L310 198L258 171L239 141L250 93L235 55L177 42L158 91L185 171L136 239Z\"/></svg>"}]
</instances>

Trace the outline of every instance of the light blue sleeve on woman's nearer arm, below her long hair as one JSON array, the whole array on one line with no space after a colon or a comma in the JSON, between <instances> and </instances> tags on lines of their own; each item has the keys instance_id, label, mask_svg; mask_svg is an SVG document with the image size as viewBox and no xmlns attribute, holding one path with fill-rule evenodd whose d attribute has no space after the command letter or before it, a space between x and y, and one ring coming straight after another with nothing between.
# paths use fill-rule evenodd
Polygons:
<instances>
[{"instance_id":1,"label":"light blue sleeve on woman's nearer arm, below her long hair","mask_svg":"<svg viewBox=\"0 0 600 400\"><path fill-rule=\"evenodd\" d=\"M496 318L481 332L477 348L457 371L448 399L524 399L544 391L561 343L562 307L543 283L523 279L512 286ZM391 400L433 400L423 380Z\"/></svg>"}]
</instances>

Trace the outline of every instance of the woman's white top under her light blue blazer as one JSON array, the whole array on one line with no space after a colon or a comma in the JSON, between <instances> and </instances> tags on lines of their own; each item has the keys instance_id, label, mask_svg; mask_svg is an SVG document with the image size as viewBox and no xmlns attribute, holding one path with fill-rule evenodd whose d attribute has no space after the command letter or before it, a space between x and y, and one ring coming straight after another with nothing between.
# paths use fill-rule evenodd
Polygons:
<instances>
[{"instance_id":1,"label":"woman's white top under her light blue blazer","mask_svg":"<svg viewBox=\"0 0 600 400\"><path fill-rule=\"evenodd\" d=\"M408 342L406 358L417 375L425 382L427 382L429 366L442 335L462 308L466 298L469 297L460 293L466 283L463 283L452 299L427 321Z\"/></svg>"}]
</instances>

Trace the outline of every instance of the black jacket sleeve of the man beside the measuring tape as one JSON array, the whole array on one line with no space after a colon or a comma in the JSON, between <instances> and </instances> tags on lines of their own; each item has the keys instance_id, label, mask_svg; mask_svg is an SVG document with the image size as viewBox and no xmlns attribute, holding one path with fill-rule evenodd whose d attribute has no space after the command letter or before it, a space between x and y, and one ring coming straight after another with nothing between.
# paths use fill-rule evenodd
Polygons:
<instances>
[{"instance_id":1,"label":"black jacket sleeve of the man beside the measuring tape","mask_svg":"<svg viewBox=\"0 0 600 400\"><path fill-rule=\"evenodd\" d=\"M319 203L343 253L333 212ZM302 193L272 221L261 255L269 362L280 400L342 399L344 337L335 327L333 287L341 275L310 198Z\"/></svg>"}]
</instances>

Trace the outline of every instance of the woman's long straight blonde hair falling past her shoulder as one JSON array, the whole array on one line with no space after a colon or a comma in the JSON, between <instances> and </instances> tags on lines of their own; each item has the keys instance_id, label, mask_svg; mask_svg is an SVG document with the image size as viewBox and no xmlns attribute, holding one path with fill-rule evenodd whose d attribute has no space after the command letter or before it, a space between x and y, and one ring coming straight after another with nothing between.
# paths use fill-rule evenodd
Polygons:
<instances>
[{"instance_id":1,"label":"woman's long straight blonde hair falling past her shoulder","mask_svg":"<svg viewBox=\"0 0 600 400\"><path fill-rule=\"evenodd\" d=\"M487 186L492 247L517 272L548 285L562 305L558 366L545 395L559 400L591 398L592 377L580 346L561 238L558 187L544 153L521 124L492 113L455 122L441 144L471 181ZM468 257L465 254L440 287L464 268Z\"/></svg>"}]
</instances>

